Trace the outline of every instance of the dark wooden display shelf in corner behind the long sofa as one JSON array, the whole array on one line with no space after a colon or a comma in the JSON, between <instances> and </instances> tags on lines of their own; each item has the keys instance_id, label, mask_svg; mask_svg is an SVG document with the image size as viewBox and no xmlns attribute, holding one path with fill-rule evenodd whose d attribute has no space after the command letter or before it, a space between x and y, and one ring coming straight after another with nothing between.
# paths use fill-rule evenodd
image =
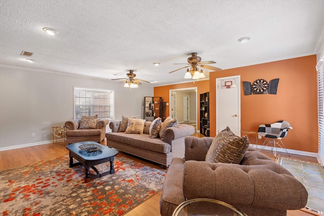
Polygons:
<instances>
[{"instance_id":1,"label":"dark wooden display shelf in corner behind the long sofa","mask_svg":"<svg viewBox=\"0 0 324 216\"><path fill-rule=\"evenodd\" d=\"M147 121L153 121L157 117L162 121L166 119L166 102L163 102L162 97L144 97L143 102L143 119Z\"/></svg>"}]
</instances>

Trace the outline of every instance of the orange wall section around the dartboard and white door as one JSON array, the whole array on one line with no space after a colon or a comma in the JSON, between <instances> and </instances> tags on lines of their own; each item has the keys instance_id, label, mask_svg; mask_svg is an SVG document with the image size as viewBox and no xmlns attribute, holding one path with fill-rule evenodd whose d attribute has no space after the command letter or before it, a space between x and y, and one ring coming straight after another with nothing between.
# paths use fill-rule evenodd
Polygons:
<instances>
[{"instance_id":1,"label":"orange wall section around the dartboard and white door","mask_svg":"<svg viewBox=\"0 0 324 216\"><path fill-rule=\"evenodd\" d=\"M240 75L241 130L287 120L293 129L282 139L286 148L318 152L316 55L210 73L210 135L216 136L216 78ZM242 81L279 78L276 95L244 95ZM219 128L223 129L223 128ZM264 139L264 138L263 138ZM264 140L258 140L261 145Z\"/></svg>"}]
</instances>

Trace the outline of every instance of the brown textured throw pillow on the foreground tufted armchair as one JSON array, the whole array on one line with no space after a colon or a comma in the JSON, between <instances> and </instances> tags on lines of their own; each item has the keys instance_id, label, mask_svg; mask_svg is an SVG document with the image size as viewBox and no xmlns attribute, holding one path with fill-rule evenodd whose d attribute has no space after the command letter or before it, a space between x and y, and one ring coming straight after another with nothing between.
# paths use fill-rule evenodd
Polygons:
<instances>
[{"instance_id":1,"label":"brown textured throw pillow on the foreground tufted armchair","mask_svg":"<svg viewBox=\"0 0 324 216\"><path fill-rule=\"evenodd\" d=\"M247 136L238 137L227 126L213 140L205 161L212 163L240 163L249 147Z\"/></svg>"}]
</instances>

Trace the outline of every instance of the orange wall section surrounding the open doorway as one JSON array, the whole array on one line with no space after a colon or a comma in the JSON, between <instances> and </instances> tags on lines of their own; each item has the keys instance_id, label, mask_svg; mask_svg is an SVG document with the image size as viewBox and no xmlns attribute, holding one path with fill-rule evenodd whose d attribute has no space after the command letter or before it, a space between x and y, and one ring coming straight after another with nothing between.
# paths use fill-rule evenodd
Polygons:
<instances>
[{"instance_id":1,"label":"orange wall section surrounding the open doorway","mask_svg":"<svg viewBox=\"0 0 324 216\"><path fill-rule=\"evenodd\" d=\"M170 90L176 89L187 89L187 88L197 88L197 96L199 100L199 94L209 92L209 80L201 80L194 82L186 82L180 84L164 85L162 87L154 87L154 97L162 97L163 101L170 103L169 95ZM199 110L199 103L197 103L197 110ZM170 107L166 107L166 117L170 115ZM197 119L199 119L199 113L197 112ZM199 122L197 122L197 129L199 128Z\"/></svg>"}]
</instances>

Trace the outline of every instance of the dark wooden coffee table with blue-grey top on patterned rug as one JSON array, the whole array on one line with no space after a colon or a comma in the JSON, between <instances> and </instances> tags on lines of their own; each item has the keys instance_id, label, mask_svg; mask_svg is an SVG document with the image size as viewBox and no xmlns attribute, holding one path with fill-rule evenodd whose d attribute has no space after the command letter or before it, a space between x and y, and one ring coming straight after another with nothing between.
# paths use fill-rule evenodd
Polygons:
<instances>
[{"instance_id":1,"label":"dark wooden coffee table with blue-grey top on patterned rug","mask_svg":"<svg viewBox=\"0 0 324 216\"><path fill-rule=\"evenodd\" d=\"M89 148L89 150L80 149L79 146L98 146L99 150L93 150ZM70 156L70 163L69 167L77 166L77 165L83 165L86 169L86 183L90 182L90 180L100 178L103 176L106 176L108 174L114 174L115 169L113 167L113 159L118 154L118 151L111 149L107 146L103 146L101 144L98 144L96 142L80 142L80 143L74 143L66 146L66 149L69 150L69 156ZM78 162L73 163L73 158L78 160ZM95 167L95 165L110 162L110 170L107 170L105 172L99 172L98 169ZM97 175L90 176L89 168L92 168Z\"/></svg>"}]
</instances>

